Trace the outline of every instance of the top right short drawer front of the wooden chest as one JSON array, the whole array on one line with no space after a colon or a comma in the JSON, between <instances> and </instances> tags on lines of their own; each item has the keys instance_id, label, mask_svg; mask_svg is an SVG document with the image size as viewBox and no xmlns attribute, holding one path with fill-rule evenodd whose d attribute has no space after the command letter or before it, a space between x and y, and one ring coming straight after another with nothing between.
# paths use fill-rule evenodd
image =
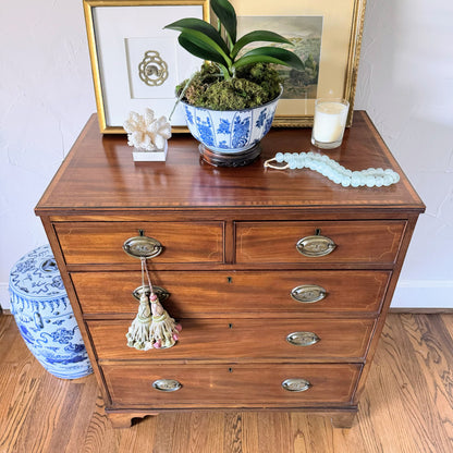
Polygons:
<instances>
[{"instance_id":1,"label":"top right short drawer front of the wooden chest","mask_svg":"<svg viewBox=\"0 0 453 453\"><path fill-rule=\"evenodd\" d=\"M393 265L405 224L405 221L399 220L237 222L236 261ZM328 247L325 241L314 238L317 232L318 236L331 240L334 246ZM311 245L304 247L308 242ZM305 253L320 256L299 253L297 244Z\"/></svg>"}]
</instances>

